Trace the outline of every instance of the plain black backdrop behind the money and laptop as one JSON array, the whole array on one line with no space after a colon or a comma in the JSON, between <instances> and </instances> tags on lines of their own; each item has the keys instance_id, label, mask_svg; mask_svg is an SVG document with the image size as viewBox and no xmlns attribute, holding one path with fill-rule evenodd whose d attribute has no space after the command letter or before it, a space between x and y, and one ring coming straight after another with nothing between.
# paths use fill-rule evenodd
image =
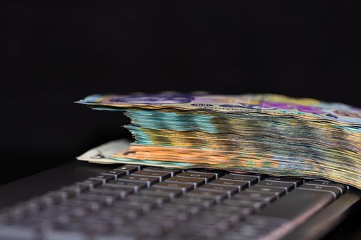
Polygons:
<instances>
[{"instance_id":1,"label":"plain black backdrop behind the money and laptop","mask_svg":"<svg viewBox=\"0 0 361 240\"><path fill-rule=\"evenodd\" d=\"M360 8L349 1L1 1L5 182L111 139L92 93L280 93L361 107Z\"/></svg>"}]
</instances>

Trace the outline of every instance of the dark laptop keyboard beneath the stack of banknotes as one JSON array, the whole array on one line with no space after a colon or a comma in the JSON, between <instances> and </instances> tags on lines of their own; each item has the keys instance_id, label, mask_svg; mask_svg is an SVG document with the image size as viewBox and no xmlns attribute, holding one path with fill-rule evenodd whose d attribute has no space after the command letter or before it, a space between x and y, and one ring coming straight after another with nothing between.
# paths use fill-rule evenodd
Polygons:
<instances>
[{"instance_id":1,"label":"dark laptop keyboard beneath the stack of banknotes","mask_svg":"<svg viewBox=\"0 0 361 240\"><path fill-rule=\"evenodd\" d=\"M280 239L347 193L327 180L122 165L0 213L0 239Z\"/></svg>"}]
</instances>

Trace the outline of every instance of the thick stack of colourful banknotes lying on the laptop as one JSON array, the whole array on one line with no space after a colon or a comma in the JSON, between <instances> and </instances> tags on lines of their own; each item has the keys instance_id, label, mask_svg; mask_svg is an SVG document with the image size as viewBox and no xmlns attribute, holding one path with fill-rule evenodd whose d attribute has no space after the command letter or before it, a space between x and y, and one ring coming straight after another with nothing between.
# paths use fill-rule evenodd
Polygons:
<instances>
[{"instance_id":1,"label":"thick stack of colourful banknotes lying on the laptop","mask_svg":"<svg viewBox=\"0 0 361 240\"><path fill-rule=\"evenodd\" d=\"M78 103L124 112L135 139L79 160L326 178L361 189L360 108L269 94L91 95Z\"/></svg>"}]
</instances>

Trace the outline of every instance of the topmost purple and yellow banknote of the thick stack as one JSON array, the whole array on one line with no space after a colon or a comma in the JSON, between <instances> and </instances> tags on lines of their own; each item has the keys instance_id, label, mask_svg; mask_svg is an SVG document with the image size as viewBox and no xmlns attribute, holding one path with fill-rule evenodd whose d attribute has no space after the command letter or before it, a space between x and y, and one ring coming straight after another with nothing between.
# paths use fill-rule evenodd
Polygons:
<instances>
[{"instance_id":1,"label":"topmost purple and yellow banknote of the thick stack","mask_svg":"<svg viewBox=\"0 0 361 240\"><path fill-rule=\"evenodd\" d=\"M361 123L361 108L340 103L326 103L316 99L292 98L283 95L191 95L138 94L90 95L77 101L80 104L117 108L175 108L180 110L209 110L215 112L259 112L261 114L305 117Z\"/></svg>"}]
</instances>

